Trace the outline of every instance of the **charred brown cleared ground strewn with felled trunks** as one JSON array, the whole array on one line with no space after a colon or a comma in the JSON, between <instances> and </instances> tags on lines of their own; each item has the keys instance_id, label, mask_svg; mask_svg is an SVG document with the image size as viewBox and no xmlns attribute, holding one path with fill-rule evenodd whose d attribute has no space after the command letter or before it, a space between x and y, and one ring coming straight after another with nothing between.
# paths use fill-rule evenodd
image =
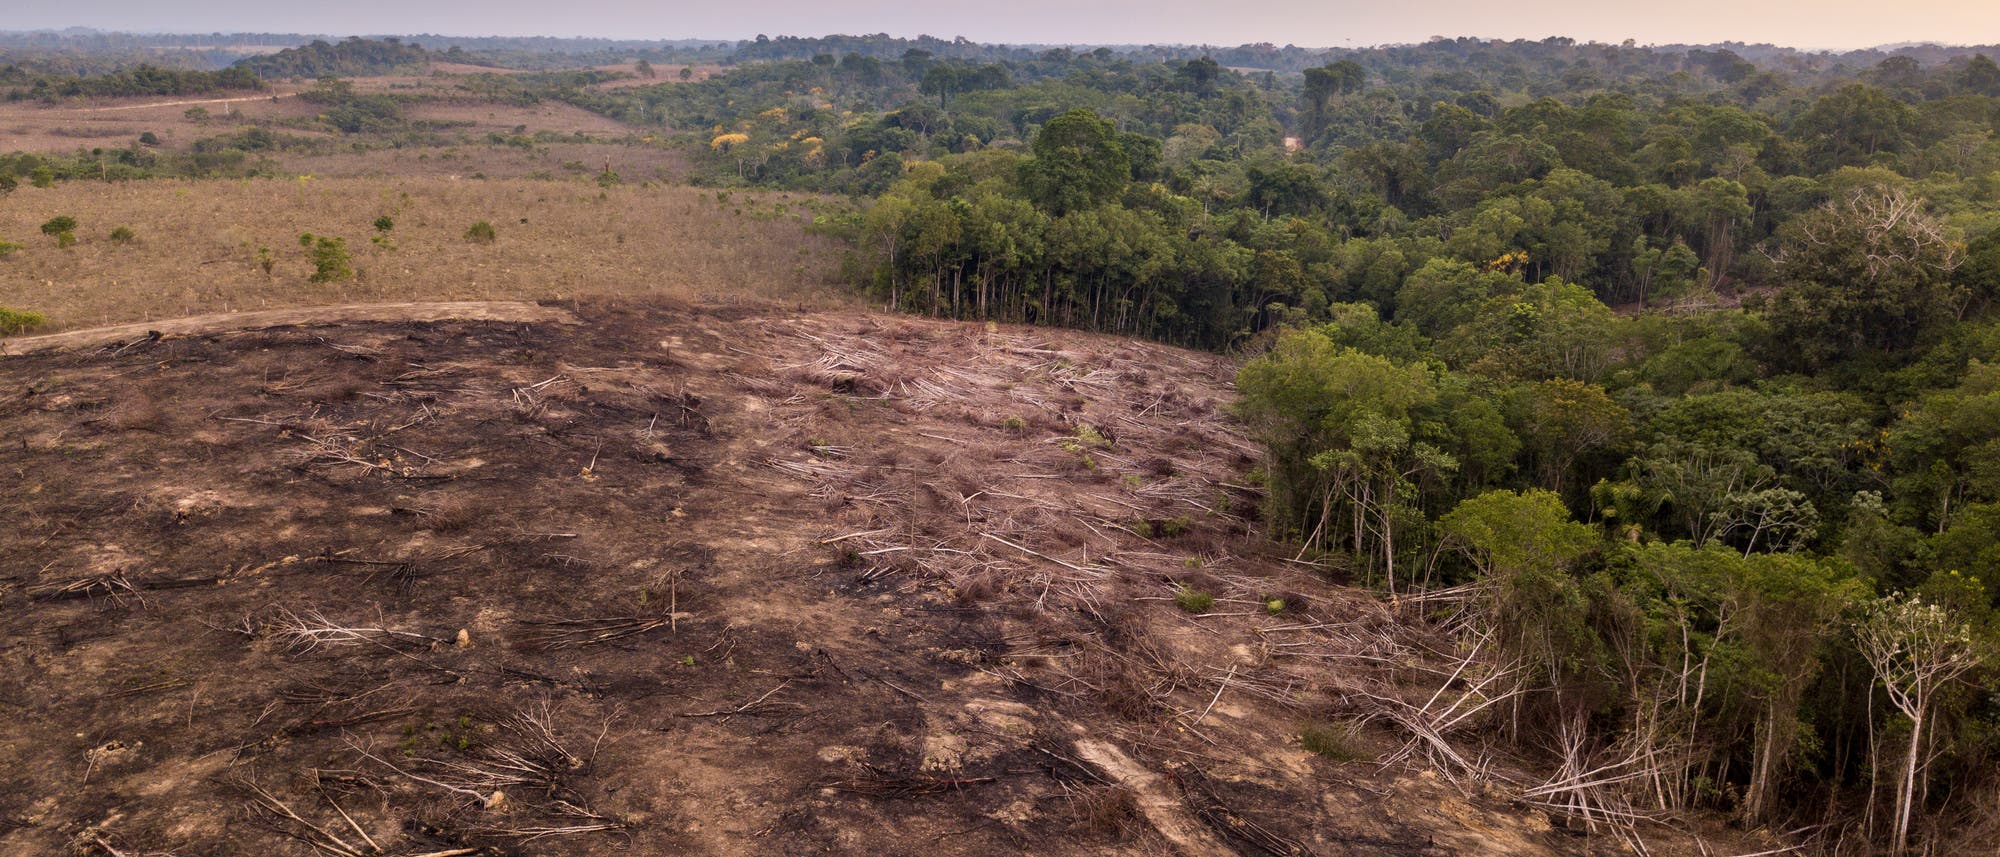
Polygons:
<instances>
[{"instance_id":1,"label":"charred brown cleared ground strewn with felled trunks","mask_svg":"<svg viewBox=\"0 0 2000 857\"><path fill-rule=\"evenodd\" d=\"M0 358L0 853L1620 851L1300 749L1438 667L1262 537L1234 362L574 312Z\"/></svg>"}]
</instances>

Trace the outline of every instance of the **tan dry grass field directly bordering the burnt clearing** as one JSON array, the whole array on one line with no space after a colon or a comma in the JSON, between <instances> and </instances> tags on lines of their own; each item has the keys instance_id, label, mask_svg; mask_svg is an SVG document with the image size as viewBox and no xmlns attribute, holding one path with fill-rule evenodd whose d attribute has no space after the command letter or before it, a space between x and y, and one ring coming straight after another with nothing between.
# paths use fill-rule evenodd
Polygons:
<instances>
[{"instance_id":1,"label":"tan dry grass field directly bordering the burnt clearing","mask_svg":"<svg viewBox=\"0 0 2000 857\"><path fill-rule=\"evenodd\" d=\"M780 202L794 206L772 216ZM6 306L48 316L40 332L282 306L372 300L572 300L666 296L702 302L842 304L838 246L810 236L798 194L666 186L448 178L154 180L22 186L0 210L0 238L26 244L0 260ZM742 214L738 214L742 210ZM78 218L58 250L36 232ZM396 220L394 248L370 222ZM498 242L464 240L492 220ZM138 240L116 244L114 226ZM306 282L298 234L348 240L356 278ZM264 274L258 248L276 264Z\"/></svg>"}]
</instances>

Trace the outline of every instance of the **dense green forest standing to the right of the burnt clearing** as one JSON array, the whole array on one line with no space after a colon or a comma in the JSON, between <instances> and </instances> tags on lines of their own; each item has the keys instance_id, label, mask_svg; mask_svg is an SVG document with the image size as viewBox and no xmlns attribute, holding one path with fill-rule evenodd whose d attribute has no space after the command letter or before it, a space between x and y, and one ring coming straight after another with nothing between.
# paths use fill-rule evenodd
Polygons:
<instances>
[{"instance_id":1,"label":"dense green forest standing to the right of the burnt clearing","mask_svg":"<svg viewBox=\"0 0 2000 857\"><path fill-rule=\"evenodd\" d=\"M822 46L546 96L868 198L890 306L1246 352L1270 533L1628 811L1992 835L1990 56Z\"/></svg>"}]
</instances>

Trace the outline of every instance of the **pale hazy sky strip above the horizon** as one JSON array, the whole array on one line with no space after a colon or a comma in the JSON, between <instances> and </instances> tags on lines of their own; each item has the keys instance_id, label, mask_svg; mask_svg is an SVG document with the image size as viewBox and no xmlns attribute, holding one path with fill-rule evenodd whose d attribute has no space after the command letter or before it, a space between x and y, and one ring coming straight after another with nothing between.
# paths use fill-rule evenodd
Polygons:
<instances>
[{"instance_id":1,"label":"pale hazy sky strip above the horizon","mask_svg":"<svg viewBox=\"0 0 2000 857\"><path fill-rule=\"evenodd\" d=\"M2000 0L92 0L16 6L0 28L618 38L888 32L976 42L1300 46L1430 36L1740 40L1798 48L2000 42Z\"/></svg>"}]
</instances>

